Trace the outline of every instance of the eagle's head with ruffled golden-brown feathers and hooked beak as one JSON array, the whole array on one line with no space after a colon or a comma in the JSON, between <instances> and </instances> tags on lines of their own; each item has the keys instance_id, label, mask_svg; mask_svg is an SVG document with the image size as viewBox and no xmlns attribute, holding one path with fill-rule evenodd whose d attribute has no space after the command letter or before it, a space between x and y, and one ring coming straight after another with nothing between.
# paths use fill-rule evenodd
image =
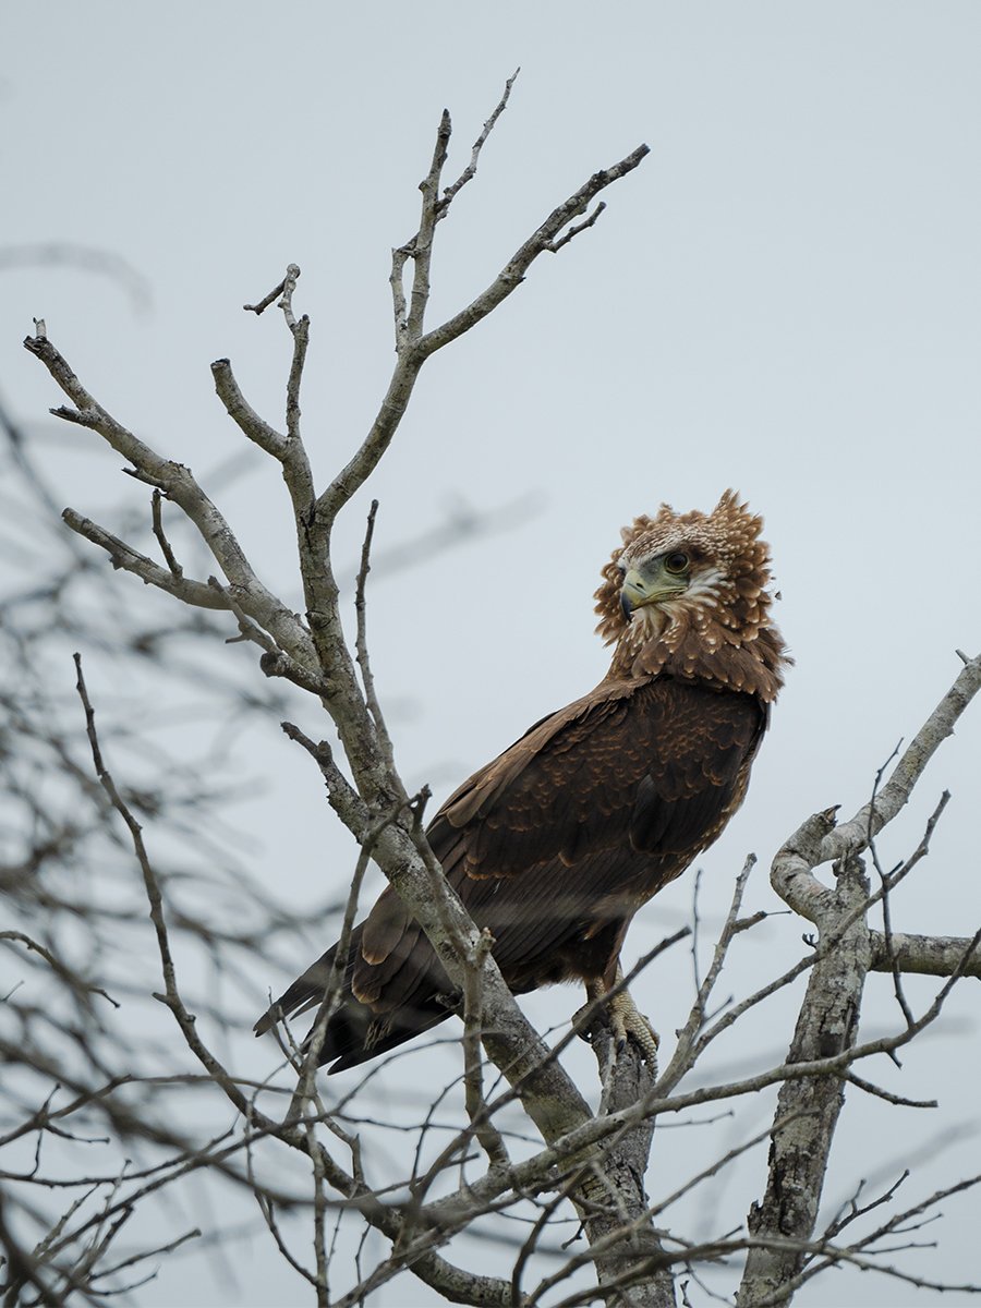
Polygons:
<instances>
[{"instance_id":1,"label":"eagle's head with ruffled golden-brown feathers and hooked beak","mask_svg":"<svg viewBox=\"0 0 981 1308\"><path fill-rule=\"evenodd\" d=\"M695 624L709 640L709 625L749 636L770 604L761 527L734 490L712 513L662 505L657 517L636 518L603 569L598 630L607 642L628 632L638 641L658 638L672 624Z\"/></svg>"}]
</instances>

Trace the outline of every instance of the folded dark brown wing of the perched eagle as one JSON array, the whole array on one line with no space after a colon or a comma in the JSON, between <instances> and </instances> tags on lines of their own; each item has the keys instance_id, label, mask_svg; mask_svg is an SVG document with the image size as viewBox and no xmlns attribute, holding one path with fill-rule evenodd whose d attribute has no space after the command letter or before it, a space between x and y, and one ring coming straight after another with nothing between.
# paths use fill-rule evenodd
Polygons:
<instances>
[{"instance_id":1,"label":"folded dark brown wing of the perched eagle","mask_svg":"<svg viewBox=\"0 0 981 1308\"><path fill-rule=\"evenodd\" d=\"M555 951L629 921L683 871L742 802L764 727L755 696L670 676L612 683L543 719L464 782L433 819L429 841L475 922L494 937L505 978L515 988L557 980ZM353 990L368 1003L412 1002L442 973L391 889L360 943Z\"/></svg>"}]
</instances>

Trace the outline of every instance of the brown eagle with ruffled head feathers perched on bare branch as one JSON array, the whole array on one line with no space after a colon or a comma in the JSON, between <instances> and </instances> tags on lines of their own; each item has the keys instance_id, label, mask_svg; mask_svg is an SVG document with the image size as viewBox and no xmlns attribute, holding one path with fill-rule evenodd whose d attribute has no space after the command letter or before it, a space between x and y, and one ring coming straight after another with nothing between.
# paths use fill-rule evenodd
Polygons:
<instances>
[{"instance_id":1,"label":"brown eagle with ruffled head feathers perched on bare branch","mask_svg":"<svg viewBox=\"0 0 981 1308\"><path fill-rule=\"evenodd\" d=\"M619 1039L633 1035L649 1058L657 1036L617 986L627 930L742 804L790 662L770 619L761 527L734 490L710 513L664 504L624 527L595 593L610 671L475 772L426 831L511 991L574 980L593 999L613 990ZM319 1006L336 948L256 1035ZM353 1067L460 1005L388 887L352 933L319 1061Z\"/></svg>"}]
</instances>

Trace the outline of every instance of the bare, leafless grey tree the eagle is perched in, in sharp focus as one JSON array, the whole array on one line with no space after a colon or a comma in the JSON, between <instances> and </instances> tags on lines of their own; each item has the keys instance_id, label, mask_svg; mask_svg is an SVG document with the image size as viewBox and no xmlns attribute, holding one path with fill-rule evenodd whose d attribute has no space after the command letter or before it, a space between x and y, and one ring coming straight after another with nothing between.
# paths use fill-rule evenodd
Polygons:
<instances>
[{"instance_id":1,"label":"bare, leafless grey tree the eagle is perched in, in sharp focus","mask_svg":"<svg viewBox=\"0 0 981 1308\"><path fill-rule=\"evenodd\" d=\"M929 1284L884 1262L882 1247L942 1196L926 1197L912 1209L900 1210L893 1202L893 1186L884 1198L863 1209L855 1206L855 1211L828 1230L819 1231L816 1219L845 1091L849 1087L876 1091L858 1071L862 1061L908 1044L937 1018L959 978L981 974L978 935L938 940L900 934L891 926L891 892L927 853L930 832L943 806L921 846L901 867L880 871L875 846L876 835L906 802L926 760L981 685L981 659L964 658L952 689L861 812L837 827L833 812L818 814L780 849L773 862L773 887L795 913L818 926L800 961L713 1014L714 988L727 951L760 920L760 914L742 916L752 867L752 859L747 861L712 965L697 988L687 1023L678 1032L668 1065L655 1075L629 1048L611 1059L608 1039L600 1033L594 1041L596 1057L600 1067L612 1066L612 1073L608 1093L595 1109L561 1059L577 1035L576 1028L549 1048L525 1018L501 980L489 942L470 921L432 859L420 820L425 795L411 795L396 770L395 748L374 691L366 637L365 583L373 515L354 587L357 637L353 647L344 640L341 606L347 596L336 581L334 526L395 438L424 364L496 310L517 290L540 255L560 252L591 228L604 208L602 201L595 203L598 198L636 169L647 153L641 145L611 167L594 173L545 216L470 305L438 326L429 326L426 311L438 225L449 216L459 191L472 181L480 152L508 105L510 86L509 81L467 166L449 186L443 184L443 169L451 127L449 115L442 115L432 164L420 186L419 230L392 251L394 371L370 430L326 488L314 483L301 436L300 394L310 320L294 311L300 277L296 266L286 269L269 294L246 306L262 314L275 303L292 337L283 428L252 408L229 360L212 365L216 391L232 420L246 439L281 466L296 527L302 616L263 585L221 510L191 471L152 449L99 403L48 337L43 322L37 323L35 334L25 341L67 399L52 412L105 439L126 459L131 476L153 488L153 531L162 561L139 552L75 509L64 513L68 526L103 549L116 569L166 591L183 606L230 619L237 638L258 646L258 663L267 678L300 687L311 697L311 706L328 715L341 742L343 760L315 734L292 722L284 723L284 729L319 769L331 808L361 848L347 893L344 930L351 929L361 879L374 861L421 923L454 985L466 995L460 1120L434 1158L424 1162L417 1154L398 1167L392 1164L395 1171L383 1184L378 1176L369 1176L361 1129L352 1125L357 1117L351 1105L358 1091L335 1093L318 1084L315 1037L310 1049L284 1048L292 1071L285 1097L283 1082L277 1088L238 1075L228 1058L217 1056L207 1015L195 1014L186 1001L170 939L171 908L156 870L152 841L144 840L140 815L127 798L126 786L114 780L102 752L98 705L93 708L80 664L78 692L95 772L106 802L132 842L150 906L164 977L164 990L157 998L196 1058L201 1080L212 1090L217 1087L237 1113L235 1124L220 1137L165 1141L174 1152L170 1169L162 1176L169 1184L178 1175L216 1169L229 1182L250 1188L283 1258L309 1283L318 1304L337 1308L353 1308L400 1274L419 1278L455 1303L573 1308L606 1301L663 1308L678 1301L679 1284L685 1283L685 1277L697 1282L701 1270L719 1260L731 1273L726 1295L742 1308L787 1303L799 1284L840 1264ZM167 511L175 508L194 526L213 560L215 576L190 576L178 560L165 530L165 506ZM832 887L815 876L820 866L833 870ZM869 879L870 866L874 884ZM874 910L884 914L882 931L869 923ZM675 939L663 942L663 947ZM56 960L48 961L58 968ZM876 971L892 976L903 1022L892 1033L863 1041L858 1035L863 986ZM903 974L909 971L943 978L935 999L920 1014L903 995ZM786 1058L736 1080L709 1079L693 1086L692 1073L706 1049L747 1012L804 973L807 994ZM330 998L320 1010L320 1027ZM498 1079L488 1090L490 1078L498 1073L506 1084ZM655 1124L698 1105L732 1103L772 1086L781 1091L776 1118L764 1133L770 1138L769 1175L765 1193L753 1205L746 1226L700 1241L668 1230L666 1213L671 1205L715 1176L760 1137L722 1151L710 1168L681 1184L666 1186L657 1172L647 1173L645 1180ZM82 1092L82 1097L86 1108L98 1100L99 1112L111 1122L115 1092L116 1086L107 1080L98 1096ZM72 1105L63 1109L59 1122L71 1118L73 1110ZM430 1108L420 1121L420 1134L432 1127L434 1110ZM525 1135L519 1147L515 1113ZM21 1137L35 1135L39 1141L55 1129L55 1116L48 1108L26 1114L18 1127ZM527 1142L528 1133L534 1133L532 1144ZM271 1151L276 1158L288 1155L302 1162L309 1175L306 1193L297 1186L277 1186L269 1179ZM343 1152L345 1163L340 1160ZM977 1180L971 1177L959 1185L968 1188ZM8 1301L18 1301L18 1296L29 1301L31 1295L34 1301L63 1301L76 1292L97 1299L106 1286L115 1283L110 1273L119 1273L119 1266L106 1266L114 1223L135 1205L148 1202L153 1185L146 1176L135 1181L120 1176L97 1214L76 1220L68 1213L34 1245L26 1244L12 1227L0 1227L8 1250ZM645 1186L654 1193L653 1198ZM871 1231L850 1241L841 1237L858 1215L886 1202L892 1205L886 1210L888 1215ZM309 1223L305 1247L311 1239L313 1262L301 1256L284 1226L284 1213L296 1210ZM555 1223L568 1220L570 1210L585 1235L574 1252L560 1248L552 1236ZM504 1274L500 1267L498 1274L476 1273L468 1270L466 1261L453 1257L454 1241L462 1236L483 1233L485 1239L498 1239L501 1223L510 1215L521 1216L525 1235L510 1244L504 1240L510 1250ZM336 1232L341 1219L351 1218L377 1232L387 1252L370 1260L362 1257L360 1247L353 1257L348 1252L347 1273L341 1277L337 1269L344 1250ZM540 1257L545 1249L551 1262ZM343 1288L336 1288L339 1279ZM939 1278L934 1283L939 1286ZM683 1292L688 1301L687 1291Z\"/></svg>"}]
</instances>

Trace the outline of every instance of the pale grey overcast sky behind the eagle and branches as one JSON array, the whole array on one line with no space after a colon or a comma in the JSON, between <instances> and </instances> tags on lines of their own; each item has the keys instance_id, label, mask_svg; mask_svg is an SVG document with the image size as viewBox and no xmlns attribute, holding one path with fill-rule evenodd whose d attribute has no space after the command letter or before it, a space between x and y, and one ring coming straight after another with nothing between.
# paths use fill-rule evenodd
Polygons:
<instances>
[{"instance_id":1,"label":"pale grey overcast sky behind the eagle and branches","mask_svg":"<svg viewBox=\"0 0 981 1308\"><path fill-rule=\"evenodd\" d=\"M90 273L5 272L0 385L29 419L58 403L20 347L43 315L99 399L201 473L241 441L211 360L229 354L252 403L281 412L285 332L239 306L289 260L302 268L297 306L313 318L303 416L320 480L354 449L392 364L388 251L415 230L443 106L453 171L522 67L476 182L439 228L433 320L471 300L591 171L650 144L594 230L428 365L370 487L378 549L460 505L534 511L378 579L375 674L409 786L430 781L443 795L602 676L590 596L620 525L662 500L708 509L736 487L766 518L797 667L746 808L704 859L706 910L723 909L748 849L763 862L753 906L774 906L774 849L815 808L854 811L952 681L955 647L981 646L981 9L50 0L5 5L0 48L0 242L112 251L152 297L137 313ZM65 502L93 517L127 494L141 502L85 433L52 449ZM264 579L298 604L276 470L256 458L224 508ZM361 496L343 528L352 559L365 509ZM98 687L98 667L90 678ZM241 821L258 841L256 870L275 853L284 891L313 900L332 838L319 781L272 734L264 748L269 800ZM931 857L893 906L899 927L977 925L980 765L976 710L891 828L888 863L952 789ZM689 893L683 883L646 910L630 956L678 921ZM800 930L774 920L773 956L747 977L793 957ZM662 1032L676 1024L654 994L667 974L638 994ZM923 1002L931 989L912 993ZM869 1029L895 1023L888 982L870 991ZM901 1075L869 1069L901 1093L939 1096L944 1124L977 1116L971 1001L955 998L946 1033L909 1052ZM579 1001L548 1002L560 1020ZM411 1061L399 1067L412 1075ZM852 1096L829 1201L879 1168L895 1175L901 1150L937 1130L938 1114L926 1116ZM980 1169L973 1137L933 1152L917 1194ZM747 1196L761 1175L756 1155L740 1173ZM738 1220L743 1189L732 1203ZM952 1202L930 1228L955 1281L976 1274L972 1206ZM275 1256L249 1256L249 1284L200 1301L271 1301ZM191 1266L165 1269L140 1301L190 1301ZM933 1301L869 1277L861 1288L844 1274L829 1284L836 1303ZM379 1299L399 1301L398 1291Z\"/></svg>"}]
</instances>

